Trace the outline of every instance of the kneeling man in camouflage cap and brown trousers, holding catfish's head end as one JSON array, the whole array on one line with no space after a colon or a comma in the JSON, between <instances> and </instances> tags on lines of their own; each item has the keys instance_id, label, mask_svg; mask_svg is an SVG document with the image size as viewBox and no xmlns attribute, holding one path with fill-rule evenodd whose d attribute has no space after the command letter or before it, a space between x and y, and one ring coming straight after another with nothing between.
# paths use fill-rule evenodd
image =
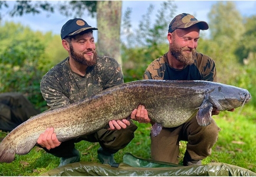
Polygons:
<instances>
[{"instance_id":1,"label":"kneeling man in camouflage cap and brown trousers, holding catfish's head end","mask_svg":"<svg viewBox=\"0 0 256 177\"><path fill-rule=\"evenodd\" d=\"M193 15L183 13L174 17L167 34L169 51L147 67L144 79L217 82L212 58L196 52L200 29L208 29L208 24L197 21ZM131 118L139 122L149 122L144 111L146 112L145 107L140 105L136 116L132 115ZM219 111L214 109L212 115L217 114ZM181 126L163 128L159 135L151 136L151 158L178 164L179 141L187 141L183 165L201 165L201 160L211 154L219 131L220 128L213 119L210 125L200 126L196 117Z\"/></svg>"}]
</instances>

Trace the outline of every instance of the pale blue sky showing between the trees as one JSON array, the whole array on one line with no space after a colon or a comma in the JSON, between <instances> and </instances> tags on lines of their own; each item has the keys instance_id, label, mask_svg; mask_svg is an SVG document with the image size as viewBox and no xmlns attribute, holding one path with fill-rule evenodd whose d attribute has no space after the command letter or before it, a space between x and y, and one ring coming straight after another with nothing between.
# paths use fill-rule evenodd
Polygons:
<instances>
[{"instance_id":1,"label":"pale blue sky showing between the trees","mask_svg":"<svg viewBox=\"0 0 256 177\"><path fill-rule=\"evenodd\" d=\"M123 1L122 3L122 13L124 13L127 7L132 10L131 22L132 27L137 28L138 23L142 18L142 15L146 14L149 4L154 5L155 11L159 9L163 1ZM236 8L239 10L242 16L256 15L256 1L234 1ZM9 1L8 4L14 3ZM52 3L58 3L57 1L52 1ZM177 15L181 13L189 13L194 15L198 20L208 22L207 15L211 10L213 4L217 1L174 1L177 5ZM6 12L6 9L2 9L2 12ZM154 19L154 15L152 16ZM87 23L93 27L97 27L96 18L91 18L90 16L83 15L83 18ZM8 17L5 15L3 17L2 24L5 21L20 22L24 26L29 26L35 31L49 32L52 31L53 34L60 35L61 27L65 22L68 21L67 17L64 17L60 13L50 14L41 13L39 15L24 15L22 17ZM94 33L94 37L97 40L97 34Z\"/></svg>"}]
</instances>

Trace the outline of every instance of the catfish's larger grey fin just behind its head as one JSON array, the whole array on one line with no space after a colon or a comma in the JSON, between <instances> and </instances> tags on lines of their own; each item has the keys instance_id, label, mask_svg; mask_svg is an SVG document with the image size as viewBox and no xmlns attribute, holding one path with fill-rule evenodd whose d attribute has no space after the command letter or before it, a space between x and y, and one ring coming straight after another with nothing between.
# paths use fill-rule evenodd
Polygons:
<instances>
[{"instance_id":1,"label":"catfish's larger grey fin just behind its head","mask_svg":"<svg viewBox=\"0 0 256 177\"><path fill-rule=\"evenodd\" d=\"M206 126L211 123L212 109L213 109L213 106L211 103L207 103L207 104L200 106L200 108L196 114L196 120L200 126Z\"/></svg>"}]
</instances>

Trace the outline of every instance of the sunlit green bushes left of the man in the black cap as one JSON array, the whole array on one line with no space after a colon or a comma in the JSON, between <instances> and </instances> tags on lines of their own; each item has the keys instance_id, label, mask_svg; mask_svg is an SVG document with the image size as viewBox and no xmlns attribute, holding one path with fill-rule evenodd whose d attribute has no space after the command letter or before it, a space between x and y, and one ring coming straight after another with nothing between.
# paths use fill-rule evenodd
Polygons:
<instances>
[{"instance_id":1,"label":"sunlit green bushes left of the man in the black cap","mask_svg":"<svg viewBox=\"0 0 256 177\"><path fill-rule=\"evenodd\" d=\"M58 36L59 37L59 36ZM53 47L56 37L43 35L28 27L12 22L0 27L0 92L23 93L37 109L45 110L46 103L40 92L42 76L64 56L63 48ZM54 49L55 52L52 52ZM50 53L49 53L50 52ZM63 58L61 58L63 60Z\"/></svg>"}]
</instances>

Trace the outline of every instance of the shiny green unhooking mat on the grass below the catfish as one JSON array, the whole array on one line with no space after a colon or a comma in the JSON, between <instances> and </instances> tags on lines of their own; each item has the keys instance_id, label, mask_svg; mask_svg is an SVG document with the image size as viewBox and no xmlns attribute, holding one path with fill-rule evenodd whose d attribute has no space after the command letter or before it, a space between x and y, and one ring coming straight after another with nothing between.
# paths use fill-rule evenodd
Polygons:
<instances>
[{"instance_id":1,"label":"shiny green unhooking mat on the grass below the catfish","mask_svg":"<svg viewBox=\"0 0 256 177\"><path fill-rule=\"evenodd\" d=\"M256 176L256 173L225 163L182 166L141 159L126 153L118 167L77 162L50 170L41 176Z\"/></svg>"}]
</instances>

